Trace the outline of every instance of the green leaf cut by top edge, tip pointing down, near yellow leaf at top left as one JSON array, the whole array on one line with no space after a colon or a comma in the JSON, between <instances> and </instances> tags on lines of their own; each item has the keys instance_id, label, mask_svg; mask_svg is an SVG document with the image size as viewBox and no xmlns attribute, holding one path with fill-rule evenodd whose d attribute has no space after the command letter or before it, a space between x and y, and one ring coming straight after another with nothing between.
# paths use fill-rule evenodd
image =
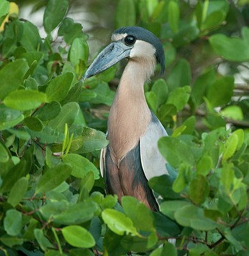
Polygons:
<instances>
[{"instance_id":1,"label":"green leaf cut by top edge, tip pointing down, near yellow leaf at top left","mask_svg":"<svg viewBox=\"0 0 249 256\"><path fill-rule=\"evenodd\" d=\"M49 0L43 15L43 24L47 34L59 25L67 9L68 0Z\"/></svg>"}]
</instances>

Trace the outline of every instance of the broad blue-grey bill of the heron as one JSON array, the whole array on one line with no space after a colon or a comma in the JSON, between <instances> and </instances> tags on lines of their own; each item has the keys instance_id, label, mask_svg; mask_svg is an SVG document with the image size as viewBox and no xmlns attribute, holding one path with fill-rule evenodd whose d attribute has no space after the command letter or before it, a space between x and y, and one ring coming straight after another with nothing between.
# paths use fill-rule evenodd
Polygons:
<instances>
[{"instance_id":1,"label":"broad blue-grey bill of the heron","mask_svg":"<svg viewBox=\"0 0 249 256\"><path fill-rule=\"evenodd\" d=\"M117 62L127 58L132 50L131 46L123 44L121 41L112 42L103 49L96 59L87 68L84 74L84 79L94 76L105 71L107 68L112 67Z\"/></svg>"}]
</instances>

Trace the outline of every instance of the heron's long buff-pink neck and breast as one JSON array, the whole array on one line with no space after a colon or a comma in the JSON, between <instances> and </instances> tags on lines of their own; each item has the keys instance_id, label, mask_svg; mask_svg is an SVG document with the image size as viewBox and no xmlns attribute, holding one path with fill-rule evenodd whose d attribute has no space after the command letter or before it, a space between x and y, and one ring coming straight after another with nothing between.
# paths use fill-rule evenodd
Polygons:
<instances>
[{"instance_id":1,"label":"heron's long buff-pink neck and breast","mask_svg":"<svg viewBox=\"0 0 249 256\"><path fill-rule=\"evenodd\" d=\"M154 68L155 63L130 60L120 79L108 122L110 147L117 161L137 145L151 122L144 83Z\"/></svg>"}]
</instances>

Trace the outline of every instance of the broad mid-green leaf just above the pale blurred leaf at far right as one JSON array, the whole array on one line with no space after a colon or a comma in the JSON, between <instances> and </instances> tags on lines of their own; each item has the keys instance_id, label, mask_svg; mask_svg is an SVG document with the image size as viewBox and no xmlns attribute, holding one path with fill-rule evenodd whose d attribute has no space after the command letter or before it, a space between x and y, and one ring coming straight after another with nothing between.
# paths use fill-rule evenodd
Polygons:
<instances>
[{"instance_id":1,"label":"broad mid-green leaf just above the pale blurred leaf at far right","mask_svg":"<svg viewBox=\"0 0 249 256\"><path fill-rule=\"evenodd\" d=\"M234 77L220 77L208 88L207 98L213 107L227 104L234 89Z\"/></svg>"}]
</instances>

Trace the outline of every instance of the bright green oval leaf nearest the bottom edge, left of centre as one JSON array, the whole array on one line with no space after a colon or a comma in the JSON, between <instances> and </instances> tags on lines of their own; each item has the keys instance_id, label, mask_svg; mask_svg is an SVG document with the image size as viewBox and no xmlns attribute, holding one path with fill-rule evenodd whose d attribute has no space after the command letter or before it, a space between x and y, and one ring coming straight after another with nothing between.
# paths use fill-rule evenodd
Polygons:
<instances>
[{"instance_id":1,"label":"bright green oval leaf nearest the bottom edge, left of centre","mask_svg":"<svg viewBox=\"0 0 249 256\"><path fill-rule=\"evenodd\" d=\"M86 228L80 226L68 226L61 230L64 239L72 246L78 248L91 248L95 245L95 241L91 233Z\"/></svg>"}]
</instances>

